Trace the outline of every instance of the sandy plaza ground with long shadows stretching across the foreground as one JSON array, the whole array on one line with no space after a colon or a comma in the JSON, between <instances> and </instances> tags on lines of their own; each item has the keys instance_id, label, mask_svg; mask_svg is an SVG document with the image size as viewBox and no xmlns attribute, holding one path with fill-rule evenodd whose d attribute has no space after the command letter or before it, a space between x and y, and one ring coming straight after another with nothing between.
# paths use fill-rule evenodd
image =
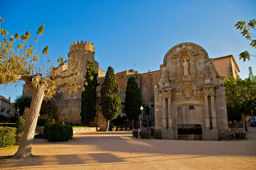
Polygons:
<instances>
[{"instance_id":1,"label":"sandy plaza ground with long shadows stretching across the foreground","mask_svg":"<svg viewBox=\"0 0 256 170\"><path fill-rule=\"evenodd\" d=\"M256 129L249 140L183 141L133 138L131 131L74 134L66 142L34 139L25 159L0 149L0 169L256 169Z\"/></svg>"}]
</instances>

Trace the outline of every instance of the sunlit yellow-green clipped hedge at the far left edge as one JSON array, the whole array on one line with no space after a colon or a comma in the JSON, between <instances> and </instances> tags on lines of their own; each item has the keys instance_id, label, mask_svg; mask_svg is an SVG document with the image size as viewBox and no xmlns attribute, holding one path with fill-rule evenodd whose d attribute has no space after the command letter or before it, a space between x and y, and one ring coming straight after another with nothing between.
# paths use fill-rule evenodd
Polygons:
<instances>
[{"instance_id":1,"label":"sunlit yellow-green clipped hedge at the far left edge","mask_svg":"<svg viewBox=\"0 0 256 170\"><path fill-rule=\"evenodd\" d=\"M8 147L16 144L16 128L0 126L0 147Z\"/></svg>"}]
</instances>

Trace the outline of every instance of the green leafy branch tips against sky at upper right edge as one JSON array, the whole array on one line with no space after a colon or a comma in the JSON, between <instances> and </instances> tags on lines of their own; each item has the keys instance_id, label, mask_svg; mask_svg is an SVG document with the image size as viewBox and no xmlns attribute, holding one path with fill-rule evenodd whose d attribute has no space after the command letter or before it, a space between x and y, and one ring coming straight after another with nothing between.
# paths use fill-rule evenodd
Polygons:
<instances>
[{"instance_id":1,"label":"green leafy branch tips against sky at upper right edge","mask_svg":"<svg viewBox=\"0 0 256 170\"><path fill-rule=\"evenodd\" d=\"M250 20L247 24L246 21L238 21L235 26L236 29L239 29L241 31L241 34L243 37L245 37L247 40L251 41L250 46L252 46L253 48L256 48L256 33L252 33L252 30L256 30L256 20ZM251 30L250 30L251 29ZM249 32L250 31L250 32ZM250 55L250 53L246 50L244 52L242 52L241 54L239 54L239 60L242 60L245 62L246 59L250 60L250 56L254 56L255 55Z\"/></svg>"}]
</instances>

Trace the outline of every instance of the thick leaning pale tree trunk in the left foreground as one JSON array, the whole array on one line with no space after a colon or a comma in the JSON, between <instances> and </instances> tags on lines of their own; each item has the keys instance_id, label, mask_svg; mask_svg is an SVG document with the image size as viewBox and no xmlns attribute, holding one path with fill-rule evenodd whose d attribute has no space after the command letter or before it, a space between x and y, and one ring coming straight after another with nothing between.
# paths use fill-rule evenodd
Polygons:
<instances>
[{"instance_id":1,"label":"thick leaning pale tree trunk in the left foreground","mask_svg":"<svg viewBox=\"0 0 256 170\"><path fill-rule=\"evenodd\" d=\"M32 142L35 135L38 115L44 98L44 91L45 85L42 82L38 87L35 87L35 90L33 90L33 96L29 108L27 122L25 124L23 135L21 137L19 149L13 155L14 158L26 158L32 155Z\"/></svg>"}]
</instances>

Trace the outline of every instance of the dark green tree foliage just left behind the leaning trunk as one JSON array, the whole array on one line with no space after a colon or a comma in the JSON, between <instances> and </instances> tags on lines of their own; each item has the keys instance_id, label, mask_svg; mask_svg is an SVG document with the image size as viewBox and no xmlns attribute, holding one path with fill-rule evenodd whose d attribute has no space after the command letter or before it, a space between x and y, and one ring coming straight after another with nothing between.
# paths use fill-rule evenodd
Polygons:
<instances>
[{"instance_id":1,"label":"dark green tree foliage just left behind the leaning trunk","mask_svg":"<svg viewBox=\"0 0 256 170\"><path fill-rule=\"evenodd\" d=\"M25 95L25 96L18 96L15 99L14 108L17 110L19 108L20 116L22 116L25 107L30 107L32 96Z\"/></svg>"}]
</instances>

